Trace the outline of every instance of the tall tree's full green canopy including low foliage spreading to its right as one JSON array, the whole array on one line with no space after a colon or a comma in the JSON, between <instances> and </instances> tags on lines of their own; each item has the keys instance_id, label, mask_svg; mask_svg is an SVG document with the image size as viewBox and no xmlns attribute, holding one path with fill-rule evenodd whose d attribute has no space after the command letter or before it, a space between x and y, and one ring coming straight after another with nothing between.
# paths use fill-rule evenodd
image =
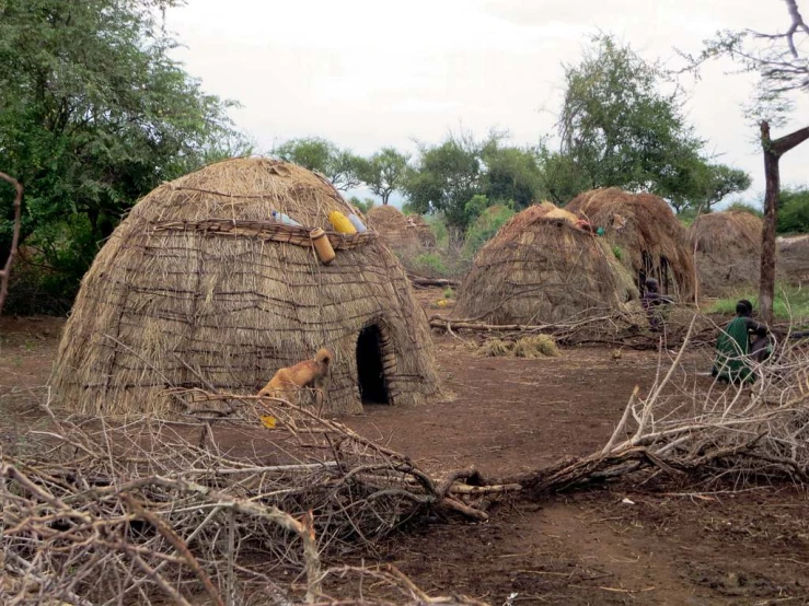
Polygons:
<instances>
[{"instance_id":1,"label":"tall tree's full green canopy including low foliage spreading to its right","mask_svg":"<svg viewBox=\"0 0 809 606\"><path fill-rule=\"evenodd\" d=\"M749 187L743 172L704 158L678 89L666 93L667 85L656 63L605 35L565 68L559 151L542 152L542 183L554 201L619 186L655 193L682 210Z\"/></svg>"}]
</instances>

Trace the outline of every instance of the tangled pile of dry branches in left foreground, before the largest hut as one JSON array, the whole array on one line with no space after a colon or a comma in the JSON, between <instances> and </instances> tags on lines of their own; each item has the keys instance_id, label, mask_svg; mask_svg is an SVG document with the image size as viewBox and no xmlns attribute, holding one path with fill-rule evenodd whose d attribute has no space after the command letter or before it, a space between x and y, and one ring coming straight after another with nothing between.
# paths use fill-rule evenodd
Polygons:
<instances>
[{"instance_id":1,"label":"tangled pile of dry branches in left foreground, before the largest hut","mask_svg":"<svg viewBox=\"0 0 809 606\"><path fill-rule=\"evenodd\" d=\"M311 411L238 403L264 427L53 416L2 453L0 603L321 603L324 582L363 575L396 603L458 603L396 571L324 562L431 509L485 518L459 481L472 471L437 482Z\"/></svg>"}]
</instances>

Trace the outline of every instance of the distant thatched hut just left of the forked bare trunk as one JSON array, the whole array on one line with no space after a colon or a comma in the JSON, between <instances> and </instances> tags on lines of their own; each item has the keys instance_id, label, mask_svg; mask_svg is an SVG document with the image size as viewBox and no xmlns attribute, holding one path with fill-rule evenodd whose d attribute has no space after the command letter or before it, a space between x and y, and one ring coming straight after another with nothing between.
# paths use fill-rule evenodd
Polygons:
<instances>
[{"instance_id":1,"label":"distant thatched hut just left of the forked bare trunk","mask_svg":"<svg viewBox=\"0 0 809 606\"><path fill-rule=\"evenodd\" d=\"M700 293L721 296L758 283L762 220L743 211L701 214L689 228L695 253Z\"/></svg>"}]
</instances>

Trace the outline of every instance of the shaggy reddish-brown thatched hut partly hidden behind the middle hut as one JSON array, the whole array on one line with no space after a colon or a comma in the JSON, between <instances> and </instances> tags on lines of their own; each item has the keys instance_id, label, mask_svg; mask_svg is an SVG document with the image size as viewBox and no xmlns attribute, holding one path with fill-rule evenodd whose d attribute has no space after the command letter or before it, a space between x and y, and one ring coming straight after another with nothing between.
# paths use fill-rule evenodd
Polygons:
<instances>
[{"instance_id":1,"label":"shaggy reddish-brown thatched hut partly hidden behind the middle hut","mask_svg":"<svg viewBox=\"0 0 809 606\"><path fill-rule=\"evenodd\" d=\"M651 194L629 194L617 187L579 194L565 207L603 228L624 265L643 291L655 278L660 291L679 301L693 301L696 292L694 256L687 233L666 200Z\"/></svg>"}]
</instances>

